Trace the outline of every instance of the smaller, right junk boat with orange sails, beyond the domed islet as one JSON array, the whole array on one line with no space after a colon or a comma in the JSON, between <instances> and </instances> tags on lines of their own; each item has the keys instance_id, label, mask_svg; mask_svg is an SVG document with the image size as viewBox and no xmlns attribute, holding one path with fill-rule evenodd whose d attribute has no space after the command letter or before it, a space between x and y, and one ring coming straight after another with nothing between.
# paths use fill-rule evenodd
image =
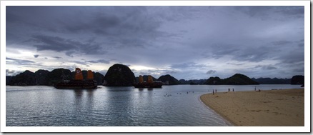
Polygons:
<instances>
[{"instance_id":1,"label":"smaller, right junk boat with orange sails, beyond the domed islet","mask_svg":"<svg viewBox=\"0 0 313 135\"><path fill-rule=\"evenodd\" d=\"M152 76L148 76L148 81L144 81L144 77L139 76L139 83L134 84L135 88L162 88L163 83L161 81L153 81Z\"/></svg>"}]
</instances>

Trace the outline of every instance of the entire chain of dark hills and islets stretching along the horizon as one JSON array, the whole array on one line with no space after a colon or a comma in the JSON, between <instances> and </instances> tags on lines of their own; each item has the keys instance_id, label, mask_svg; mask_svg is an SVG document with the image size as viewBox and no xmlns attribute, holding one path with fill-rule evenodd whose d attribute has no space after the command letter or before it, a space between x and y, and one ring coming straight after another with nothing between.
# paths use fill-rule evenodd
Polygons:
<instances>
[{"instance_id":1,"label":"entire chain of dark hills and islets stretching along the horizon","mask_svg":"<svg viewBox=\"0 0 313 135\"><path fill-rule=\"evenodd\" d=\"M84 77L87 71L82 71ZM12 86L32 86L32 85L47 85L52 86L63 80L74 79L74 71L69 69L54 69L53 71L38 70L35 73L24 71L16 76L6 76L6 85ZM131 86L138 82L138 77L128 66L122 64L114 64L106 72L105 76L99 72L94 73L94 79L99 85L106 86ZM147 75L144 75L146 81ZM177 80L173 76L167 74L160 76L159 79L153 78L154 81L162 81L164 85L177 84L207 84L207 85L249 85L249 84L304 84L304 76L293 76L292 79L270 79L259 78L250 79L244 74L234 74L233 76L220 79L218 76L210 77L209 79L192 79L192 80Z\"/></svg>"}]
</instances>

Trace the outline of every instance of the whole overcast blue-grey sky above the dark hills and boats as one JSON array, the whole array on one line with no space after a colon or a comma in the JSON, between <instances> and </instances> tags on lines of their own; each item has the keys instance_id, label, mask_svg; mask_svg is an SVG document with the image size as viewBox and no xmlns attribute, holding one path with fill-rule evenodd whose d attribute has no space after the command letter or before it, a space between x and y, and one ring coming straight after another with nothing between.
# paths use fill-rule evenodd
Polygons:
<instances>
[{"instance_id":1,"label":"whole overcast blue-grey sky above the dark hills and boats","mask_svg":"<svg viewBox=\"0 0 313 135\"><path fill-rule=\"evenodd\" d=\"M6 6L6 75L304 75L304 6Z\"/></svg>"}]
</instances>

